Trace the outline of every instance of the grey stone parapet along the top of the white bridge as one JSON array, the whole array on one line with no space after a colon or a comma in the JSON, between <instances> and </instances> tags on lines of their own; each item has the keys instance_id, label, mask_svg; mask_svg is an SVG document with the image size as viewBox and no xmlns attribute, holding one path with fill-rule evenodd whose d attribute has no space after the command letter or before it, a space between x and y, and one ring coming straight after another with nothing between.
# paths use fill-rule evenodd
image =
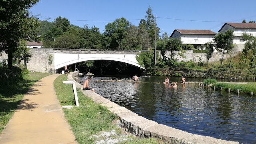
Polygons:
<instances>
[{"instance_id":1,"label":"grey stone parapet along the top of the white bridge","mask_svg":"<svg viewBox=\"0 0 256 144\"><path fill-rule=\"evenodd\" d=\"M91 50L91 49L53 49L54 53L68 54L140 54L148 50Z\"/></svg>"}]
</instances>

